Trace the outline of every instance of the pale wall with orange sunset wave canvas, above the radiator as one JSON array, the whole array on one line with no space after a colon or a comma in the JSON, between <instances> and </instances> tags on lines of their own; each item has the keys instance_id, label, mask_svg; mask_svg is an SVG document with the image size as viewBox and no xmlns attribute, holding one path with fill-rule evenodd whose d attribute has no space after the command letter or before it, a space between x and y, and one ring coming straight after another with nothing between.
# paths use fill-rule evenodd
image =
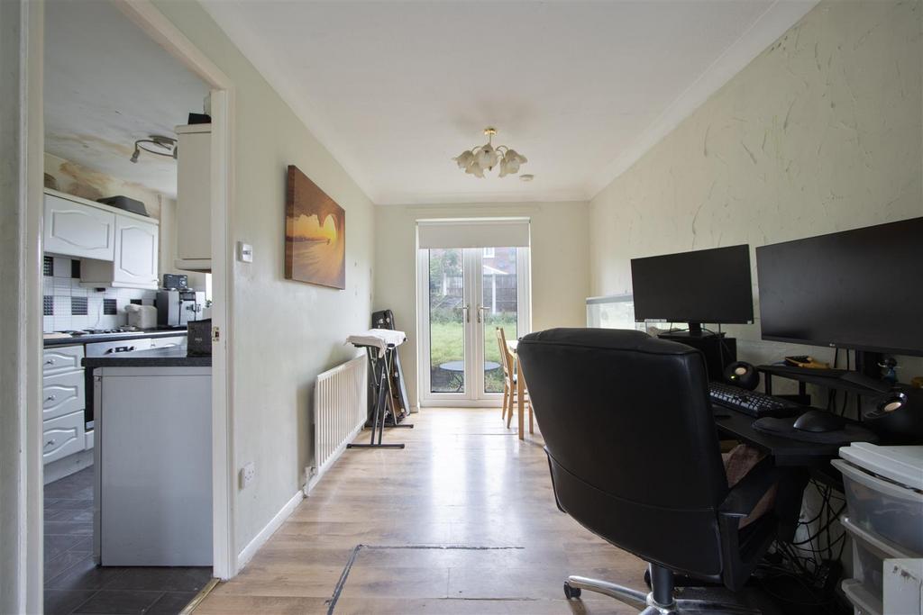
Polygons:
<instances>
[{"instance_id":1,"label":"pale wall with orange sunset wave canvas, above the radiator","mask_svg":"<svg viewBox=\"0 0 923 615\"><path fill-rule=\"evenodd\" d=\"M257 70L195 2L157 7L234 81L234 210L231 241L253 245L234 263L234 455L256 479L235 488L242 550L302 487L311 459L314 379L356 355L346 336L368 328L372 204ZM295 164L346 210L346 290L284 279L285 170Z\"/></svg>"}]
</instances>

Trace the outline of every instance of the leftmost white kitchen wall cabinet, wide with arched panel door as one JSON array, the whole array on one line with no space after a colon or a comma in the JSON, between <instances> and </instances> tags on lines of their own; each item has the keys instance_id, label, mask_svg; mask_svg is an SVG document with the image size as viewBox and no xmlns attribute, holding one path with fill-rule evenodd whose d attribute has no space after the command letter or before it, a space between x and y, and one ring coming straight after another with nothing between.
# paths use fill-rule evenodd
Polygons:
<instances>
[{"instance_id":1,"label":"leftmost white kitchen wall cabinet, wide with arched panel door","mask_svg":"<svg viewBox=\"0 0 923 615\"><path fill-rule=\"evenodd\" d=\"M115 254L115 214L77 196L45 190L44 251L111 261Z\"/></svg>"}]
</instances>

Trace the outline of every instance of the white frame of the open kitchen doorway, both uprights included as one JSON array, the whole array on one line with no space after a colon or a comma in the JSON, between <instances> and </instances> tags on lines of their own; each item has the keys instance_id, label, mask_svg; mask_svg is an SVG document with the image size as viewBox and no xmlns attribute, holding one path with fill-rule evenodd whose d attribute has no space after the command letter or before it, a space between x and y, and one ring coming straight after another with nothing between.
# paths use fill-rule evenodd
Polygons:
<instances>
[{"instance_id":1,"label":"white frame of the open kitchen doorway, both uprights included","mask_svg":"<svg viewBox=\"0 0 923 615\"><path fill-rule=\"evenodd\" d=\"M233 316L234 202L234 84L210 59L201 53L150 0L112 0L114 6L144 30L154 41L172 53L211 88L211 245L212 284L216 298L212 320L220 338L212 345L212 507L214 574L230 578L237 573L234 545L234 450L230 367L233 345L229 335ZM18 156L11 169L2 172L4 216L17 222L14 230L4 229L6 268L13 275L7 284L14 292L3 300L9 323L21 324L18 332L6 331L2 339L13 341L2 368L3 383L12 384L2 401L4 432L13 433L12 444L0 452L4 461L0 500L0 531L4 533L0 559L5 567L0 574L0 610L39 612L42 610L42 173L44 126L42 123L42 40L44 5L42 0L4 2L3 18L18 21L19 28L5 30L0 49L5 53L3 97L4 136L7 126L16 127L7 144L16 144ZM18 54L15 53L18 47ZM10 53L14 54L11 57ZM17 57L18 56L18 57ZM6 123L14 119L13 123ZM13 148L11 148L13 149ZM6 196L13 196L6 199ZM9 211L6 211L9 207ZM15 232L11 232L15 231ZM6 268L3 270L6 272ZM5 276L6 280L6 276ZM7 305L9 303L9 305ZM16 309L6 307L16 305ZM18 319L14 318L18 315ZM6 404L7 397L13 401ZM9 415L7 417L7 415ZM10 419L8 422L6 419ZM0 444L7 444L6 439ZM6 462L9 461L7 464ZM7 469L8 468L8 469ZM7 472L11 476L7 476ZM9 479L9 480L8 480ZM15 540L7 537L15 536ZM8 568L7 568L8 566ZM9 574L7 574L9 573ZM7 591L9 590L9 591Z\"/></svg>"}]
</instances>

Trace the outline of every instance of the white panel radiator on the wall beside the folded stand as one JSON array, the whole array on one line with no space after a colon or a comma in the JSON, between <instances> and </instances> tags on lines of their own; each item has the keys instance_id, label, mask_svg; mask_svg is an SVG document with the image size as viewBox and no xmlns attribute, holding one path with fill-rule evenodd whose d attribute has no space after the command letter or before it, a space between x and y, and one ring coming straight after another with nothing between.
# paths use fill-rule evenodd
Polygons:
<instances>
[{"instance_id":1,"label":"white panel radiator on the wall beside the folded stand","mask_svg":"<svg viewBox=\"0 0 923 615\"><path fill-rule=\"evenodd\" d=\"M308 471L306 491L342 455L366 424L366 356L346 361L318 374L314 386L314 465Z\"/></svg>"}]
</instances>

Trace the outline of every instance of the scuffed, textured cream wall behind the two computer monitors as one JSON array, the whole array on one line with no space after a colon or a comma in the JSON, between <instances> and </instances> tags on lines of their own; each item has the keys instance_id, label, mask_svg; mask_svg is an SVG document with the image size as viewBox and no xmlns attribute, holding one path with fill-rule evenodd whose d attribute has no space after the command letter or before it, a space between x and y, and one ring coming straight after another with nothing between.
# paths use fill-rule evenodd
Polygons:
<instances>
[{"instance_id":1,"label":"scuffed, textured cream wall behind the two computer monitors","mask_svg":"<svg viewBox=\"0 0 923 615\"><path fill-rule=\"evenodd\" d=\"M634 256L923 215L921 14L919 0L816 6L593 198L593 294L630 291ZM728 328L751 360L810 351ZM923 373L904 365L902 380Z\"/></svg>"}]
</instances>

